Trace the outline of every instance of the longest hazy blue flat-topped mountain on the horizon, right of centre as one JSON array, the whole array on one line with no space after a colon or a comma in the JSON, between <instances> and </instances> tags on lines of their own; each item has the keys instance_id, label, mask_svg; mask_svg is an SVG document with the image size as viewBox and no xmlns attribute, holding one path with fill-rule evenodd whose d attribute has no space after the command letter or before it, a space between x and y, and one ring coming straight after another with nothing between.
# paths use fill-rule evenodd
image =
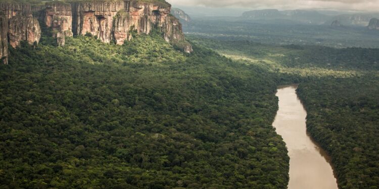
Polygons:
<instances>
[{"instance_id":1,"label":"longest hazy blue flat-topped mountain on the horizon, right of centre","mask_svg":"<svg viewBox=\"0 0 379 189\"><path fill-rule=\"evenodd\" d=\"M294 20L307 24L323 24L330 18L330 16L312 10L278 11L276 9L249 11L245 12L242 17L255 20Z\"/></svg>"}]
</instances>

